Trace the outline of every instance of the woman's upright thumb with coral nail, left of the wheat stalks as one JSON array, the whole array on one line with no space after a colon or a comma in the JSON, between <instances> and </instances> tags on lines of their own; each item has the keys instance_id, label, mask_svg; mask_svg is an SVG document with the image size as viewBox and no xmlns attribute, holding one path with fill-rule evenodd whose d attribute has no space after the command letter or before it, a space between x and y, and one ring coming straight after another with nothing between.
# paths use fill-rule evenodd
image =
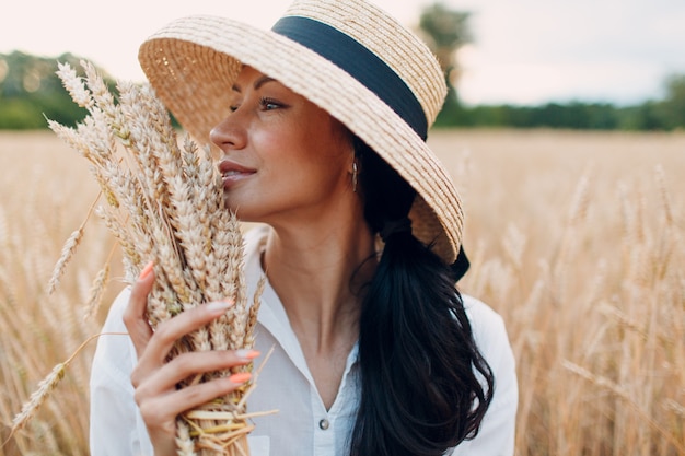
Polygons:
<instances>
[{"instance_id":1,"label":"woman's upright thumb with coral nail, left of the wheat stalks","mask_svg":"<svg viewBox=\"0 0 685 456\"><path fill-rule=\"evenodd\" d=\"M152 337L152 328L150 328L150 324L146 318L146 309L148 307L148 295L154 284L153 266L154 264L150 261L131 287L131 295L123 316L124 325L126 325L126 329L133 341L138 356L143 352Z\"/></svg>"}]
</instances>

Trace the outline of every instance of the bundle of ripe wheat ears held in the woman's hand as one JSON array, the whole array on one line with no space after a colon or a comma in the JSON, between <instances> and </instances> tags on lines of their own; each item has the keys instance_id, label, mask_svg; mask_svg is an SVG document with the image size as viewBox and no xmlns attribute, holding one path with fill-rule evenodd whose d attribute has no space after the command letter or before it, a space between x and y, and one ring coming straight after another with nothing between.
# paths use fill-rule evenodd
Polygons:
<instances>
[{"instance_id":1,"label":"bundle of ripe wheat ears held in the woman's hand","mask_svg":"<svg viewBox=\"0 0 685 456\"><path fill-rule=\"evenodd\" d=\"M121 247L126 282L133 283L141 269L154 262L156 280L147 311L151 326L202 303L233 300L224 316L179 340L171 356L252 348L264 281L249 300L243 235L235 215L224 208L221 177L209 150L200 153L189 139L179 145L165 107L148 84L118 82L115 101L95 68L85 61L81 66L84 78L69 65L59 65L57 74L88 116L76 128L48 120L49 127L90 162L106 199L95 213ZM50 289L59 282L82 231L67 242ZM199 375L179 387L252 369ZM58 371L63 375L63 369ZM255 378L221 400L179 416L178 454L248 455L246 437L254 429L249 419L257 413L246 412L246 399Z\"/></svg>"}]
</instances>

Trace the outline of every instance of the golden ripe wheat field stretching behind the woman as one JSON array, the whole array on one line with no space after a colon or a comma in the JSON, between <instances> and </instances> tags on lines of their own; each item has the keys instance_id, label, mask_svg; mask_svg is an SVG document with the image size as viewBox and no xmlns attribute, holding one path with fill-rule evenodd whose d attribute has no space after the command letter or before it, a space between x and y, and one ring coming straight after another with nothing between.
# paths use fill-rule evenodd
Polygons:
<instances>
[{"instance_id":1,"label":"golden ripe wheat field stretching behind the woman","mask_svg":"<svg viewBox=\"0 0 685 456\"><path fill-rule=\"evenodd\" d=\"M518 360L516 455L685 455L685 133L433 131L466 208L460 282L504 318ZM114 242L97 196L51 132L0 132L0 439L38 383L90 336ZM114 255L114 256L113 256ZM108 303L123 287L109 272ZM106 337L106 336L103 336ZM112 336L116 337L116 336ZM4 455L86 455L94 342Z\"/></svg>"}]
</instances>

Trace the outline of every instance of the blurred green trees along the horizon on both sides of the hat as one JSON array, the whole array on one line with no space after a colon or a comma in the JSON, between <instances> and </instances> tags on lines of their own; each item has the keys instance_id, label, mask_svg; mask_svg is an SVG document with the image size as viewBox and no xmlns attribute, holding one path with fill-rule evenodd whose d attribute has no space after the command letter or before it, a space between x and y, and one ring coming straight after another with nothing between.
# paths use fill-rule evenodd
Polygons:
<instances>
[{"instance_id":1,"label":"blurred green trees along the horizon on both sides of the hat","mask_svg":"<svg viewBox=\"0 0 685 456\"><path fill-rule=\"evenodd\" d=\"M665 95L635 106L571 101L537 106L477 105L460 101L457 50L473 42L471 13L441 2L421 11L417 32L431 47L445 74L449 93L438 116L440 128L560 128L582 130L676 130L685 127L685 74L663 81ZM57 62L80 68L80 57L65 54L55 58L20 51L0 54L0 129L47 128L46 117L74 125L84 112L73 104L55 74ZM102 71L114 87L114 79Z\"/></svg>"}]
</instances>

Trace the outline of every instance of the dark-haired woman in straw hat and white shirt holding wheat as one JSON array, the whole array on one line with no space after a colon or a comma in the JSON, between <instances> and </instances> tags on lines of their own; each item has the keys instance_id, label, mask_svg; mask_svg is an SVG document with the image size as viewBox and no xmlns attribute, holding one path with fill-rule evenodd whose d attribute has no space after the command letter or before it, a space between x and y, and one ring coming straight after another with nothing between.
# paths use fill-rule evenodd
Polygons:
<instances>
[{"instance_id":1,"label":"dark-haired woman in straw hat and white shirt holding wheat","mask_svg":"<svg viewBox=\"0 0 685 456\"><path fill-rule=\"evenodd\" d=\"M175 454L175 417L240 387L193 373L274 354L251 396L260 455L510 455L514 362L501 318L455 290L461 201L425 143L445 94L414 35L361 0L298 0L270 32L186 17L140 61L195 138L220 151L227 206L266 272L255 351L166 362L211 303L153 332L146 268L114 303L92 374L93 455ZM138 408L136 407L138 405Z\"/></svg>"}]
</instances>

